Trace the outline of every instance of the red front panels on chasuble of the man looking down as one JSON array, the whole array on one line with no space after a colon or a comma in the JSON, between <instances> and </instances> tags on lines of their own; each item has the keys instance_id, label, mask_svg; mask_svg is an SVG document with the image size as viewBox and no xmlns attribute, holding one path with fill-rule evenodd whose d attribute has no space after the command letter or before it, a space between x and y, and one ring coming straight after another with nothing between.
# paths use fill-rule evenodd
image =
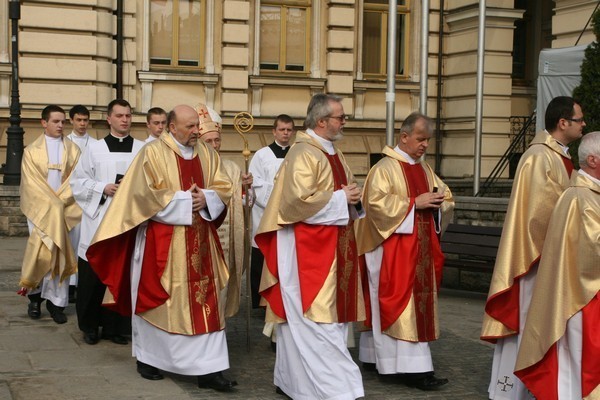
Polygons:
<instances>
[{"instance_id":1,"label":"red front panels on chasuble of the man looking down","mask_svg":"<svg viewBox=\"0 0 600 400\"><path fill-rule=\"evenodd\" d=\"M415 198L430 191L429 184L420 164L399 163L406 177L410 211ZM382 244L379 278L381 330L385 331L398 320L413 297L419 342L436 339L435 297L444 265L433 212L430 209L415 210L413 233L392 234Z\"/></svg>"}]
</instances>

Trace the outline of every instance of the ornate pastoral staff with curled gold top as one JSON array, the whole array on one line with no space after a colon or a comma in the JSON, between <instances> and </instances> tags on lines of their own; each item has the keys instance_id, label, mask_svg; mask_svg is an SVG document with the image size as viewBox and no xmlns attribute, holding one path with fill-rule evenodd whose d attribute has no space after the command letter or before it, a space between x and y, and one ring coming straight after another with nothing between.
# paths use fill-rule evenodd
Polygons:
<instances>
[{"instance_id":1,"label":"ornate pastoral staff with curled gold top","mask_svg":"<svg viewBox=\"0 0 600 400\"><path fill-rule=\"evenodd\" d=\"M244 150L242 155L244 156L244 173L248 174L248 164L250 163L250 149L248 149L248 139L246 134L249 133L254 127L254 117L252 114L247 112L240 112L233 118L233 127L240 134L244 140ZM253 205L248 184L243 185L243 193L246 195L244 201L244 259L243 259L243 270L246 272L246 347L250 351L250 311L252 305L250 302L250 250L252 244L250 243L250 208Z\"/></svg>"}]
</instances>

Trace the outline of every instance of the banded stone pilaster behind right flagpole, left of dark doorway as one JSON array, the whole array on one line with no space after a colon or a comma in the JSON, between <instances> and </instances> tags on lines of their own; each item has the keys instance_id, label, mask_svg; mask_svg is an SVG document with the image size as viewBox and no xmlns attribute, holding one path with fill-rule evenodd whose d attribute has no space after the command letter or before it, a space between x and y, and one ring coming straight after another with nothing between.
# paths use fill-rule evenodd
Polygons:
<instances>
[{"instance_id":1,"label":"banded stone pilaster behind right flagpole, left of dark doorway","mask_svg":"<svg viewBox=\"0 0 600 400\"><path fill-rule=\"evenodd\" d=\"M446 177L473 174L479 5L469 3L446 15L442 95L442 175ZM509 145L513 30L522 14L511 1L492 2L486 12L482 177L489 175Z\"/></svg>"}]
</instances>

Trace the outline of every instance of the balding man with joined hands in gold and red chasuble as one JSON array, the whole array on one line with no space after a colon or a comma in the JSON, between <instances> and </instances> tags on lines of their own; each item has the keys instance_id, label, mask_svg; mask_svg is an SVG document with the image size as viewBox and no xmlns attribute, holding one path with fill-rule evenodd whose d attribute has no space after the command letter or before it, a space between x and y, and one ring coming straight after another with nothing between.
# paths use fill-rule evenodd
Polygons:
<instances>
[{"instance_id":1,"label":"balding man with joined hands in gold and red chasuble","mask_svg":"<svg viewBox=\"0 0 600 400\"><path fill-rule=\"evenodd\" d=\"M232 183L218 154L198 140L196 111L177 106L168 133L142 148L87 252L107 286L105 306L132 314L140 375L197 375L230 391L224 289L217 236ZM108 266L108 267L107 267Z\"/></svg>"}]
</instances>

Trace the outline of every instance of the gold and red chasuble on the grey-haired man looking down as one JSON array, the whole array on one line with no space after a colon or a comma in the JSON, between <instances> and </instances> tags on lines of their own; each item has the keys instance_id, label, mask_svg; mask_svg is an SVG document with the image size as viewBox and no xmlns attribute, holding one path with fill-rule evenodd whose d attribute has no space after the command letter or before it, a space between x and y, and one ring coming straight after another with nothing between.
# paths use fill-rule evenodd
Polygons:
<instances>
[{"instance_id":1,"label":"gold and red chasuble on the grey-haired man looking down","mask_svg":"<svg viewBox=\"0 0 600 400\"><path fill-rule=\"evenodd\" d=\"M427 342L439 337L437 290L444 255L435 229L437 210L416 210L411 234L395 231L414 208L415 198L437 187L444 193L442 223L452 218L450 189L421 161L411 165L391 147L369 172L363 207L356 223L360 254L383 246L379 281L381 331L393 338ZM445 228L445 226L444 226ZM370 321L367 321L367 326Z\"/></svg>"}]
</instances>

